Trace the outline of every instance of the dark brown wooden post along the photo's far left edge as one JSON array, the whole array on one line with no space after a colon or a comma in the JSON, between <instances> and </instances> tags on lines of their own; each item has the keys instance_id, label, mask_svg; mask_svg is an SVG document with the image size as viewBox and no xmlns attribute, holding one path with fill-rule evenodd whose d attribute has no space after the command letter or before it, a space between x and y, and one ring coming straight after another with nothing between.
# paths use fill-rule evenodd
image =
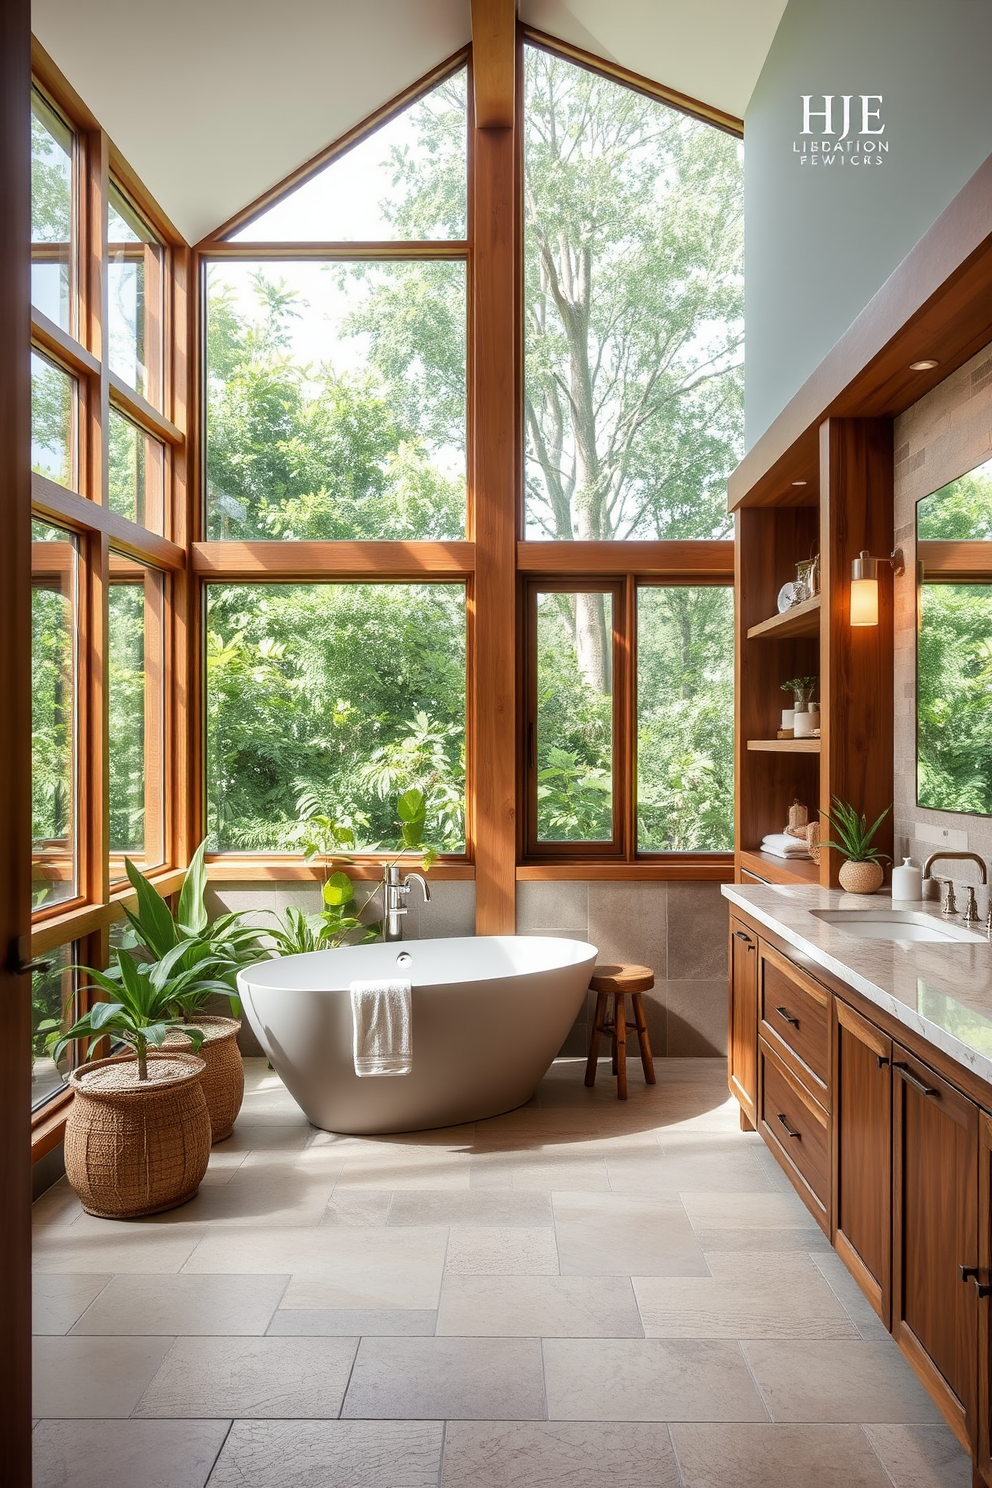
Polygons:
<instances>
[{"instance_id":1,"label":"dark brown wooden post along the photo's far left edge","mask_svg":"<svg viewBox=\"0 0 992 1488\"><path fill-rule=\"evenodd\" d=\"M31 13L0 6L0 1482L31 1482Z\"/></svg>"}]
</instances>

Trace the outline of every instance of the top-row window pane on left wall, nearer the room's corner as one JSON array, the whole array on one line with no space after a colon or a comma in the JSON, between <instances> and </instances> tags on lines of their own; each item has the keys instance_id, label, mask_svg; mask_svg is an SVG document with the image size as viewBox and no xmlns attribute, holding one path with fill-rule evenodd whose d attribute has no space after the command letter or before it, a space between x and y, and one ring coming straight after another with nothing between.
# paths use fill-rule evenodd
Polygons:
<instances>
[{"instance_id":1,"label":"top-row window pane on left wall, nearer the room's corner","mask_svg":"<svg viewBox=\"0 0 992 1488\"><path fill-rule=\"evenodd\" d=\"M110 183L107 202L107 348L110 371L162 402L162 246Z\"/></svg>"}]
</instances>

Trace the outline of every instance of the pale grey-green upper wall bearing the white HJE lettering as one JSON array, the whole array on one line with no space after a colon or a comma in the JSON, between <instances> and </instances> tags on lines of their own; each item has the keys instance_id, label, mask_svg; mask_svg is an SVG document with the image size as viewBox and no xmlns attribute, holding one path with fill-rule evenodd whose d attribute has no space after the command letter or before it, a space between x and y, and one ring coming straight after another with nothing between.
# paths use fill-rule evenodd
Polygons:
<instances>
[{"instance_id":1,"label":"pale grey-green upper wall bearing the white HJE lettering","mask_svg":"<svg viewBox=\"0 0 992 1488\"><path fill-rule=\"evenodd\" d=\"M824 92L882 94L883 165L799 165ZM745 115L748 448L991 152L992 0L790 0Z\"/></svg>"}]
</instances>

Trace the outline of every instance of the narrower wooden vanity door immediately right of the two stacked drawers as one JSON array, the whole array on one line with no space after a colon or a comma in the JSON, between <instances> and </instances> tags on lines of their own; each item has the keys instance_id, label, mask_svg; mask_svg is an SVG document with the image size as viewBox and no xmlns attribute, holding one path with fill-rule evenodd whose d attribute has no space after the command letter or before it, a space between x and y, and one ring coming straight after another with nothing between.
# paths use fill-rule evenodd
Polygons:
<instances>
[{"instance_id":1,"label":"narrower wooden vanity door immediately right of the two stacked drawers","mask_svg":"<svg viewBox=\"0 0 992 1488\"><path fill-rule=\"evenodd\" d=\"M834 1000L834 1235L837 1254L885 1326L891 1318L892 1042Z\"/></svg>"}]
</instances>

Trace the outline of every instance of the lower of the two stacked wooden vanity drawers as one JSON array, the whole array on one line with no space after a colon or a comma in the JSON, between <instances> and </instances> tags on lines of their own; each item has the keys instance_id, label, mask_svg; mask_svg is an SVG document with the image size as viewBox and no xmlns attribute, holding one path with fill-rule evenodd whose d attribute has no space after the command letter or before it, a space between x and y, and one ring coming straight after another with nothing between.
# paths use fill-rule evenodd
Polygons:
<instances>
[{"instance_id":1,"label":"lower of the two stacked wooden vanity drawers","mask_svg":"<svg viewBox=\"0 0 992 1488\"><path fill-rule=\"evenodd\" d=\"M759 1104L761 1135L827 1231L830 1122L763 1039L759 1039Z\"/></svg>"}]
</instances>

